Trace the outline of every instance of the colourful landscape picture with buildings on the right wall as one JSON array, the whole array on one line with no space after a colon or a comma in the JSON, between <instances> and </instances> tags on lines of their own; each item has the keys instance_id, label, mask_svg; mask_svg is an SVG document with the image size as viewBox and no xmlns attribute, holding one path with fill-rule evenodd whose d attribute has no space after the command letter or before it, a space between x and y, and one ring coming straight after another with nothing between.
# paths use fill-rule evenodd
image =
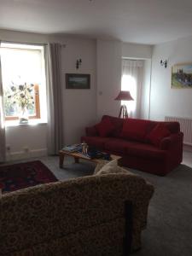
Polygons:
<instances>
[{"instance_id":1,"label":"colourful landscape picture with buildings on the right wall","mask_svg":"<svg viewBox=\"0 0 192 256\"><path fill-rule=\"evenodd\" d=\"M172 88L192 89L192 63L176 64L172 66Z\"/></svg>"}]
</instances>

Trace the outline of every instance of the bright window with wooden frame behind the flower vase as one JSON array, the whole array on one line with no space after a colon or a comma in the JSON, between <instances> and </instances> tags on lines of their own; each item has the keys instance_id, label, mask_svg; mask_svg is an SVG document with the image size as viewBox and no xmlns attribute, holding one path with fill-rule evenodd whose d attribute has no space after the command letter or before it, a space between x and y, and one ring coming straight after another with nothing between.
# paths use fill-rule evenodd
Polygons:
<instances>
[{"instance_id":1,"label":"bright window with wooden frame behind the flower vase","mask_svg":"<svg viewBox=\"0 0 192 256\"><path fill-rule=\"evenodd\" d=\"M44 47L2 43L0 54L5 120L19 119L27 108L29 119L46 121Z\"/></svg>"}]
</instances>

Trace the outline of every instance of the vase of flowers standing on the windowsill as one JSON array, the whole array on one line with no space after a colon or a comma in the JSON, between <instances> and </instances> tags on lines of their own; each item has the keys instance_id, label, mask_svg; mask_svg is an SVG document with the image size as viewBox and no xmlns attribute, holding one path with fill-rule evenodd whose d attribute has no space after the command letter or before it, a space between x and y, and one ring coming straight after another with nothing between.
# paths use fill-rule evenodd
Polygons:
<instances>
[{"instance_id":1,"label":"vase of flowers standing on the windowsill","mask_svg":"<svg viewBox=\"0 0 192 256\"><path fill-rule=\"evenodd\" d=\"M28 123L28 109L34 106L33 87L34 84L14 84L13 82L10 87L11 94L9 94L8 98L20 109L20 124Z\"/></svg>"}]
</instances>

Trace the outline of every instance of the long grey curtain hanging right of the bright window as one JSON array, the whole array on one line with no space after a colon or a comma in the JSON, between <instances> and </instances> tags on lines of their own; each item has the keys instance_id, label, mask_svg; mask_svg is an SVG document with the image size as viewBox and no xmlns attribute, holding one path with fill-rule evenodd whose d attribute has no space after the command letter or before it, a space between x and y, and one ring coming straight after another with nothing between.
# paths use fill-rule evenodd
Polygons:
<instances>
[{"instance_id":1,"label":"long grey curtain hanging right of the bright window","mask_svg":"<svg viewBox=\"0 0 192 256\"><path fill-rule=\"evenodd\" d=\"M45 70L48 109L48 154L58 154L63 147L61 102L61 44L45 46Z\"/></svg>"}]
</instances>

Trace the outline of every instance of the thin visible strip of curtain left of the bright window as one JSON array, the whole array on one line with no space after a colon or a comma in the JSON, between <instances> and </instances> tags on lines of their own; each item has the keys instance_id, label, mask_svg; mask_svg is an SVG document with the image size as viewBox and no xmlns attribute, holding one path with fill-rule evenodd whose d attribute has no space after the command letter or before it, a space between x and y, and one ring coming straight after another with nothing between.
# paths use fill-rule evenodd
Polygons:
<instances>
[{"instance_id":1,"label":"thin visible strip of curtain left of the bright window","mask_svg":"<svg viewBox=\"0 0 192 256\"><path fill-rule=\"evenodd\" d=\"M1 49L1 42L0 42ZM5 126L3 114L3 83L2 83L2 65L1 65L1 52L0 52L0 162L6 160L5 150Z\"/></svg>"}]
</instances>

